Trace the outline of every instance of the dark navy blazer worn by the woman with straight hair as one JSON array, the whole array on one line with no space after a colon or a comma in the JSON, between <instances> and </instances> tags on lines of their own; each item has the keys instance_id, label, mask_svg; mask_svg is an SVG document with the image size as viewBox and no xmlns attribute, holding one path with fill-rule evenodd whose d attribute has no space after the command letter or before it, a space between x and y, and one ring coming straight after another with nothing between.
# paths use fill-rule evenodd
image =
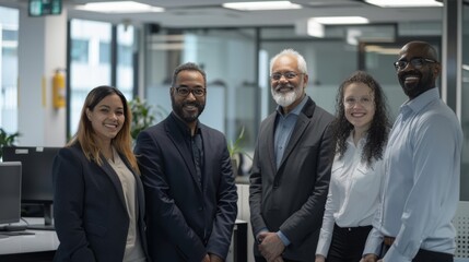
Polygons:
<instances>
[{"instance_id":1,"label":"dark navy blazer worn by the woman with straight hair","mask_svg":"<svg viewBox=\"0 0 469 262\"><path fill-rule=\"evenodd\" d=\"M132 170L126 158L120 155ZM54 218L60 240L54 261L116 262L122 261L129 230L129 216L120 180L102 157L103 166L89 162L79 144L59 151L52 165ZM132 170L133 172L133 170ZM143 186L137 183L138 230L143 251Z\"/></svg>"}]
</instances>

